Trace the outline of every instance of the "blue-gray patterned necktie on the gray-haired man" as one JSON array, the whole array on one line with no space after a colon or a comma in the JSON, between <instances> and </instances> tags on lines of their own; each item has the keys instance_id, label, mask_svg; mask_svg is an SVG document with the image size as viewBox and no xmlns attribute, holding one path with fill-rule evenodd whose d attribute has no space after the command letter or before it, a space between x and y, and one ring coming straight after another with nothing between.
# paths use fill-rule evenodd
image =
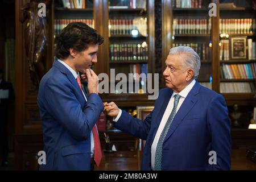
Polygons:
<instances>
[{"instance_id":1,"label":"blue-gray patterned necktie on the gray-haired man","mask_svg":"<svg viewBox=\"0 0 256 182\"><path fill-rule=\"evenodd\" d=\"M155 170L160 171L162 168L162 146L163 146L163 141L164 138L166 138L166 134L168 133L168 130L170 129L171 123L174 120L176 110L177 110L177 104L179 103L180 100L180 95L176 94L174 96L174 108L172 109L172 112L167 119L166 126L164 126L164 129L160 135L160 138L158 140L158 145L156 146L156 151L155 151Z\"/></svg>"}]
</instances>

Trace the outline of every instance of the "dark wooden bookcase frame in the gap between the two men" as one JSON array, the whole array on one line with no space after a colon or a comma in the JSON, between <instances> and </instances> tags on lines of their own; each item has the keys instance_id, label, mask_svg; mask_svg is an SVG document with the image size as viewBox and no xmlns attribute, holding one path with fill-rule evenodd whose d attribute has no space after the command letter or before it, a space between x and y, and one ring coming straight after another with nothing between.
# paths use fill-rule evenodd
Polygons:
<instances>
[{"instance_id":1,"label":"dark wooden bookcase frame in the gap between the two men","mask_svg":"<svg viewBox=\"0 0 256 182\"><path fill-rule=\"evenodd\" d=\"M115 73L129 73L130 64L147 64L147 72L154 73L154 1L146 0L146 8L137 8L137 9L119 9L114 8L110 9L109 6L113 6L111 3L109 5L109 0L104 0L104 23L102 26L104 27L104 60L98 61L99 64L104 64L106 67L101 69L101 72L108 73L110 69L114 68ZM138 17L147 18L147 33L146 35L139 34L138 35L127 35L127 34L116 34L113 35L112 26L109 27L109 20L118 20L118 19L135 19ZM110 22L111 23L111 22ZM138 30L139 31L139 30ZM112 34L110 35L110 32ZM111 44L142 44L146 42L147 44L147 60L111 60L110 56L113 54L110 52ZM102 62L101 62L102 61ZM101 97L104 101L115 101L119 106L136 106L135 102L143 103L143 105L147 105L147 96L146 94L101 94ZM139 97L139 99L138 99Z\"/></svg>"}]
</instances>

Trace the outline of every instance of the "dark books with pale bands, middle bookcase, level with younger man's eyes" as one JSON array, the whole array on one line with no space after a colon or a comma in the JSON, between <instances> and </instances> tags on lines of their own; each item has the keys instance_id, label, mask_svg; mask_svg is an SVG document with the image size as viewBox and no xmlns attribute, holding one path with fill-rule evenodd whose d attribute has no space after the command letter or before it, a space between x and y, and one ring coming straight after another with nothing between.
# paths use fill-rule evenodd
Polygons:
<instances>
[{"instance_id":1,"label":"dark books with pale bands, middle bookcase, level with younger man's eyes","mask_svg":"<svg viewBox=\"0 0 256 182\"><path fill-rule=\"evenodd\" d=\"M145 43L110 44L110 61L147 60L148 47Z\"/></svg>"}]
</instances>

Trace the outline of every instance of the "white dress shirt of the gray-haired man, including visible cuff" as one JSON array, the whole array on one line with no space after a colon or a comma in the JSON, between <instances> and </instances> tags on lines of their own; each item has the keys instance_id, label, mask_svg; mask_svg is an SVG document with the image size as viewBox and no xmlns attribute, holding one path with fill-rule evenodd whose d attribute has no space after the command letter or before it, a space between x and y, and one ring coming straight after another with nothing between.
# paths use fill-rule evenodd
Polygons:
<instances>
[{"instance_id":1,"label":"white dress shirt of the gray-haired man, including visible cuff","mask_svg":"<svg viewBox=\"0 0 256 182\"><path fill-rule=\"evenodd\" d=\"M188 84L188 86L186 86L183 90L181 90L181 92L179 93L179 95L181 96L180 97L180 100L179 100L179 103L177 105L177 110L176 112L180 109L180 106L181 104L183 103L183 101L185 100L185 98L187 97L188 93L190 92L190 90L193 88L193 86L195 85L196 81L195 80L192 80L190 84ZM172 96L170 98L170 101L166 107L166 111L164 111L164 114L163 114L163 118L160 122L160 125L158 127L158 131L156 132L156 135L155 135L155 138L154 138L154 142L152 143L152 146L151 146L151 169L153 171L155 171L155 152L156 152L156 146L158 145L158 140L160 138L160 135L164 129L164 126L166 126L166 122L171 114L171 111L174 107L174 96L178 94L176 92L172 93ZM117 122L118 119L120 118L122 114L122 110L119 109L119 113L117 115L116 118L113 119L114 122Z\"/></svg>"}]
</instances>

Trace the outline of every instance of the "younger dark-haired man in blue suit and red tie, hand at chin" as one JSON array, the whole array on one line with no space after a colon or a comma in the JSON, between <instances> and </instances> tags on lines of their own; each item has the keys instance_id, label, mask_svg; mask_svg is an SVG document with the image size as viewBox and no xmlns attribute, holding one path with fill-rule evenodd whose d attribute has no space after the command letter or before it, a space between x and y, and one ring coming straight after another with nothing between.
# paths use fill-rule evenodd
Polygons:
<instances>
[{"instance_id":1,"label":"younger dark-haired man in blue suit and red tie, hand at chin","mask_svg":"<svg viewBox=\"0 0 256 182\"><path fill-rule=\"evenodd\" d=\"M104 39L85 23L65 27L57 40L56 60L40 81L38 106L43 127L46 164L41 170L91 170L101 160L96 121L104 106L98 78L90 69L97 63ZM89 96L81 86L88 80Z\"/></svg>"}]
</instances>

